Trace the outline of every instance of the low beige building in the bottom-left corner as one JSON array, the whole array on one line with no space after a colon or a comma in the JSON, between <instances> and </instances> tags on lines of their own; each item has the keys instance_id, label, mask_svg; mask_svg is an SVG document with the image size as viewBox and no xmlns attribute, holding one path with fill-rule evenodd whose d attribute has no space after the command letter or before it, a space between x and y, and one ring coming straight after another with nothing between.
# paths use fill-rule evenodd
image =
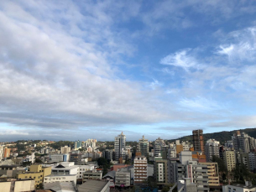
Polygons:
<instances>
[{"instance_id":1,"label":"low beige building in the bottom-left corner","mask_svg":"<svg viewBox=\"0 0 256 192\"><path fill-rule=\"evenodd\" d=\"M0 182L0 192L34 191L34 182L34 179L9 179L8 181Z\"/></svg>"}]
</instances>

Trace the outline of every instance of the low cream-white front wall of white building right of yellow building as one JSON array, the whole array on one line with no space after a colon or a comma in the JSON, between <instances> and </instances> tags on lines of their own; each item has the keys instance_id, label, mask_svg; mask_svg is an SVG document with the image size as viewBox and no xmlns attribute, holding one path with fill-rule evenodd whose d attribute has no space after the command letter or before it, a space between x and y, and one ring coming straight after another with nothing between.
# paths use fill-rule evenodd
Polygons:
<instances>
[{"instance_id":1,"label":"low cream-white front wall of white building right of yellow building","mask_svg":"<svg viewBox=\"0 0 256 192\"><path fill-rule=\"evenodd\" d=\"M55 182L74 182L76 184L76 174L50 174L44 177L44 184Z\"/></svg>"}]
</instances>

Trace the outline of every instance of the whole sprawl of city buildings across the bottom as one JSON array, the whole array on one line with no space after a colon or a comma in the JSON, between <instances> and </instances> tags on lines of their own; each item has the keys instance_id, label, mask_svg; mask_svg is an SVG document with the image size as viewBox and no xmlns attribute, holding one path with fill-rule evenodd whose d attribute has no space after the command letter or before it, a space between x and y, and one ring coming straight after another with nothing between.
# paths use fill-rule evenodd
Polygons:
<instances>
[{"instance_id":1,"label":"whole sprawl of city buildings across the bottom","mask_svg":"<svg viewBox=\"0 0 256 192\"><path fill-rule=\"evenodd\" d=\"M256 173L256 140L244 132L235 132L222 144L214 138L205 140L201 129L192 131L191 141L173 143L142 136L131 146L123 132L113 142L77 140L60 148L53 148L53 143L1 143L0 191L68 188L105 192L134 186L149 189L152 182L154 189L172 184L169 191L175 187L196 192L256 189L250 181L232 184L234 178L230 176L240 166ZM225 170L219 169L220 162Z\"/></svg>"}]
</instances>

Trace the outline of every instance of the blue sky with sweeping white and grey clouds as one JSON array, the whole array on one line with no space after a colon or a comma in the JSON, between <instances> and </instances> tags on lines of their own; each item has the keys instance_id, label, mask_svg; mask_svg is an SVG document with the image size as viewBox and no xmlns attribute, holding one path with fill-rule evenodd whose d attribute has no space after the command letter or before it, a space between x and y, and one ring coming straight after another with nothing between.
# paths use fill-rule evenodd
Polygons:
<instances>
[{"instance_id":1,"label":"blue sky with sweeping white and grey clouds","mask_svg":"<svg viewBox=\"0 0 256 192\"><path fill-rule=\"evenodd\" d=\"M256 2L0 1L0 141L256 125Z\"/></svg>"}]
</instances>

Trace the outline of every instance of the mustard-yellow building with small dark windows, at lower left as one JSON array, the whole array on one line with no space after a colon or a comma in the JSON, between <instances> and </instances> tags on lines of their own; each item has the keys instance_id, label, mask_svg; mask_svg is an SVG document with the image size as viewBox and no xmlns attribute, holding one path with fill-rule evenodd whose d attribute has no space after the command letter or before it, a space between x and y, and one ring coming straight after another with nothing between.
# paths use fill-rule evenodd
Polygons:
<instances>
[{"instance_id":1,"label":"mustard-yellow building with small dark windows, at lower left","mask_svg":"<svg viewBox=\"0 0 256 192\"><path fill-rule=\"evenodd\" d=\"M51 167L42 167L41 164L33 164L30 166L29 172L16 174L17 179L34 179L34 186L44 182L44 176L51 174Z\"/></svg>"}]
</instances>

